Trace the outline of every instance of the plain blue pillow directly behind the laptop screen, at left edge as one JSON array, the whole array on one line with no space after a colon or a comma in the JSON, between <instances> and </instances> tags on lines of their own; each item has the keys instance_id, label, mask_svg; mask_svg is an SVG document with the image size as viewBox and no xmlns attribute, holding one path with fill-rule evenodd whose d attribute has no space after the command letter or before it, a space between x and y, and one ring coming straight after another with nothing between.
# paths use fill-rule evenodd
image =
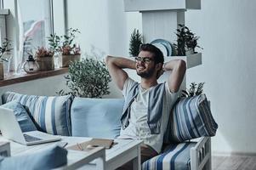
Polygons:
<instances>
[{"instance_id":1,"label":"plain blue pillow directly behind the laptop screen, at left edge","mask_svg":"<svg viewBox=\"0 0 256 170\"><path fill-rule=\"evenodd\" d=\"M34 122L32 122L31 117L26 112L26 109L18 101L10 101L7 104L1 105L14 111L15 117L20 124L21 131L23 133L28 131L37 130Z\"/></svg>"}]
</instances>

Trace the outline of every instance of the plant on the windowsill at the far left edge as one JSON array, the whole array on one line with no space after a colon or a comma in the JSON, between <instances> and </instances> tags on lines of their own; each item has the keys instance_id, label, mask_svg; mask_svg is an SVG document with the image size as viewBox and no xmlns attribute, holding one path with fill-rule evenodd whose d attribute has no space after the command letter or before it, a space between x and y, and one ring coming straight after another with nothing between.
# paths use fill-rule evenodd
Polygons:
<instances>
[{"instance_id":1,"label":"plant on the windowsill at the far left edge","mask_svg":"<svg viewBox=\"0 0 256 170\"><path fill-rule=\"evenodd\" d=\"M0 80L3 80L3 62L8 62L9 52L11 51L9 39L5 38L0 46Z\"/></svg>"}]
</instances>

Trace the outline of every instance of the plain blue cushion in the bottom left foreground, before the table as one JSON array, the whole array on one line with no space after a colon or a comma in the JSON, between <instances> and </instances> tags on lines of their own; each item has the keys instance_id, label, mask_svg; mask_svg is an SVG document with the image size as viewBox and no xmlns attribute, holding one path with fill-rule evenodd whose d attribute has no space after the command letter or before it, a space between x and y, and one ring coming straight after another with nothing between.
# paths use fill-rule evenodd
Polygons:
<instances>
[{"instance_id":1,"label":"plain blue cushion in the bottom left foreground, before the table","mask_svg":"<svg viewBox=\"0 0 256 170\"><path fill-rule=\"evenodd\" d=\"M60 146L37 151L30 155L1 157L0 169L53 169L67 163L67 150Z\"/></svg>"}]
</instances>

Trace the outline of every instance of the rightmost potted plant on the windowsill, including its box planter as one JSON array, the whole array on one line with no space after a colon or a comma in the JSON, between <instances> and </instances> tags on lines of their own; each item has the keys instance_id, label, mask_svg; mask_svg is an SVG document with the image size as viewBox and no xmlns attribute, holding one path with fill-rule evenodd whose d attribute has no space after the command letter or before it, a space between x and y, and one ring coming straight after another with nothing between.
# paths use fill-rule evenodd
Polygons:
<instances>
[{"instance_id":1,"label":"rightmost potted plant on the windowsill, including its box planter","mask_svg":"<svg viewBox=\"0 0 256 170\"><path fill-rule=\"evenodd\" d=\"M67 67L71 61L80 60L81 49L74 42L77 33L80 33L78 29L70 28L67 30L67 34L64 36L58 36L56 33L54 33L48 37L50 49L54 51L54 53L60 54L60 67Z\"/></svg>"}]
</instances>

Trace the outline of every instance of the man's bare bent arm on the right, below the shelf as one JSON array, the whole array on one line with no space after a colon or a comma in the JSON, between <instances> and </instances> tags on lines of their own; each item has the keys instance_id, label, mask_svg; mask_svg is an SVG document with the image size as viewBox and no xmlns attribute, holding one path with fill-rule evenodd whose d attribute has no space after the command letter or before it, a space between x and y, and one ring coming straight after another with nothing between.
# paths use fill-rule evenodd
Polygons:
<instances>
[{"instance_id":1,"label":"man's bare bent arm on the right, below the shelf","mask_svg":"<svg viewBox=\"0 0 256 170\"><path fill-rule=\"evenodd\" d=\"M172 71L168 77L168 88L172 93L179 91L181 82L185 75L186 65L182 59L174 59L162 65L162 71Z\"/></svg>"}]
</instances>

